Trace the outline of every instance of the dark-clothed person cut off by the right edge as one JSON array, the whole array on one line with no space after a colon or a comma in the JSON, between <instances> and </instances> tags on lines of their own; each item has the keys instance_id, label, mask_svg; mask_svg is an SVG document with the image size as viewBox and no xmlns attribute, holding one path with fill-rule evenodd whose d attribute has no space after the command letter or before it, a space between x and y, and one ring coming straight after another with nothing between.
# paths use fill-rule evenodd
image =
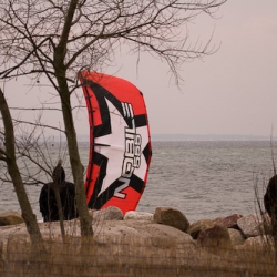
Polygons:
<instances>
[{"instance_id":1,"label":"dark-clothed person cut off by the right edge","mask_svg":"<svg viewBox=\"0 0 277 277\"><path fill-rule=\"evenodd\" d=\"M268 215L277 219L277 175L269 179L266 194L264 196L264 205Z\"/></svg>"}]
</instances>

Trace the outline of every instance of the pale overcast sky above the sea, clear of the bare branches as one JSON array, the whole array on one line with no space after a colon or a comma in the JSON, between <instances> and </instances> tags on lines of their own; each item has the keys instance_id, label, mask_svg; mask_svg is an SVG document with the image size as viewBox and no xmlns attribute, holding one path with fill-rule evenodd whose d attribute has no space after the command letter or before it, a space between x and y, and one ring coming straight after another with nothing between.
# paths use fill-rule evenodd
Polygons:
<instances>
[{"instance_id":1,"label":"pale overcast sky above the sea, clear of the bare branches","mask_svg":"<svg viewBox=\"0 0 277 277\"><path fill-rule=\"evenodd\" d=\"M220 48L203 60L185 63L179 89L170 83L168 69L160 60L142 58L137 72L134 57L119 57L116 74L143 92L151 133L270 136L274 130L276 135L276 0L228 0L217 19L196 18L192 35L205 43L214 30L213 43ZM13 94L8 101L16 105L27 99ZM86 110L75 119L78 134L89 133L85 116Z\"/></svg>"}]
</instances>

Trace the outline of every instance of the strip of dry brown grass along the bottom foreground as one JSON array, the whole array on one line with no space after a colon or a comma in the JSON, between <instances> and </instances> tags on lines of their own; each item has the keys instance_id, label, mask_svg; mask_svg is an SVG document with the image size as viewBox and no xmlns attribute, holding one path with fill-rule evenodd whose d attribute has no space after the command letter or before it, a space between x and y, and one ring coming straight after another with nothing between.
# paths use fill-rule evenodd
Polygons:
<instances>
[{"instance_id":1,"label":"strip of dry brown grass along the bottom foreground","mask_svg":"<svg viewBox=\"0 0 277 277\"><path fill-rule=\"evenodd\" d=\"M204 249L195 245L141 242L100 244L80 237L45 240L37 253L24 238L11 237L1 249L0 276L277 276L270 247Z\"/></svg>"}]
</instances>

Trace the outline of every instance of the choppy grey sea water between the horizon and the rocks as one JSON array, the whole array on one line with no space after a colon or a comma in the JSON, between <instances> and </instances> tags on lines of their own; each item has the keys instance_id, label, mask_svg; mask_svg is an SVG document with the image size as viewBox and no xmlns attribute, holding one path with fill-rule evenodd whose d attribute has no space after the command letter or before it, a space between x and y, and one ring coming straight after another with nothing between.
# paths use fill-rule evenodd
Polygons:
<instances>
[{"instance_id":1,"label":"choppy grey sea water between the horizon and the rocks","mask_svg":"<svg viewBox=\"0 0 277 277\"><path fill-rule=\"evenodd\" d=\"M174 207L191 223L257 212L257 198L263 204L277 152L273 143L261 141L154 141L152 147L148 179L136 211L154 213L157 206ZM88 143L80 143L80 153L86 165ZM52 161L58 160L55 147L51 155ZM72 181L64 157L66 179ZM39 220L41 187L25 186ZM0 213L9 209L20 212L17 195L11 184L0 183Z\"/></svg>"}]
</instances>

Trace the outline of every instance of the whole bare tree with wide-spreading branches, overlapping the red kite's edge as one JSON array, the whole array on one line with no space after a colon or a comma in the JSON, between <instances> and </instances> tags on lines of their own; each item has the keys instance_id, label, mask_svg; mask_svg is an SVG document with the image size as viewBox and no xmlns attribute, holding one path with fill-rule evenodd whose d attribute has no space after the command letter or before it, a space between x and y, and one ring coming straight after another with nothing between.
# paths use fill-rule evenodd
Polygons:
<instances>
[{"instance_id":1,"label":"whole bare tree with wide-spreading branches, overlapping the red kite's edge","mask_svg":"<svg viewBox=\"0 0 277 277\"><path fill-rule=\"evenodd\" d=\"M71 94L81 70L109 65L121 45L178 69L215 50L211 40L191 43L184 27L201 13L213 17L226 0L7 0L0 3L0 78L44 80L61 100L70 163L76 185L81 234L92 234L83 165L72 116Z\"/></svg>"}]
</instances>

